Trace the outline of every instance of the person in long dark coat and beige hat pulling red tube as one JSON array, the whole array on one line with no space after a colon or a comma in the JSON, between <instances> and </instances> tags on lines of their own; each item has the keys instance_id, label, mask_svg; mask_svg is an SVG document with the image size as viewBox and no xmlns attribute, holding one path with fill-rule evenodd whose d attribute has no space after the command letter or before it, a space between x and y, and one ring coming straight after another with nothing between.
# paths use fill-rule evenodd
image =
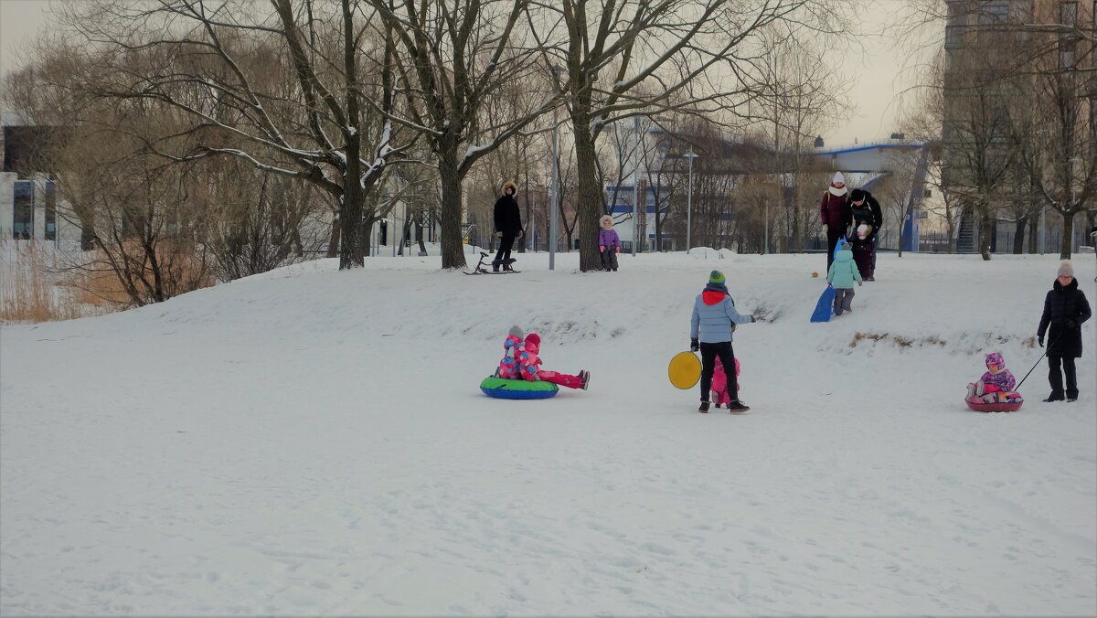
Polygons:
<instances>
[{"instance_id":1,"label":"person in long dark coat and beige hat pulling red tube","mask_svg":"<svg viewBox=\"0 0 1097 618\"><path fill-rule=\"evenodd\" d=\"M1041 348L1043 337L1048 335L1048 382L1051 383L1051 395L1043 401L1061 402L1064 394L1068 402L1078 398L1074 359L1082 356L1082 323L1089 319L1090 315L1086 295L1078 289L1078 280L1074 278L1074 267L1070 260L1063 260L1059 266L1055 284L1043 301L1043 315L1040 317L1040 328L1036 332ZM1062 372L1060 366L1063 368ZM1065 393L1063 373L1066 373Z\"/></svg>"}]
</instances>

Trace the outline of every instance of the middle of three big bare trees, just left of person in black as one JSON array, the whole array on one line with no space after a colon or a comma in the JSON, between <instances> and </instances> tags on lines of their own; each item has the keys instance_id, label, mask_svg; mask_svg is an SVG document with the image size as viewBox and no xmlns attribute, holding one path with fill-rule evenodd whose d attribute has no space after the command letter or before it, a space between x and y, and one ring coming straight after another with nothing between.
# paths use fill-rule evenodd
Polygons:
<instances>
[{"instance_id":1,"label":"middle of three big bare trees, just left of person in black","mask_svg":"<svg viewBox=\"0 0 1097 618\"><path fill-rule=\"evenodd\" d=\"M462 180L479 158L559 101L538 78L538 49L516 34L528 2L475 0L451 7L441 0L370 1L396 50L396 92L406 102L402 110L385 112L421 135L433 151L442 187L442 268L462 268ZM487 102L504 95L511 82L540 95L507 116L485 115Z\"/></svg>"}]
</instances>

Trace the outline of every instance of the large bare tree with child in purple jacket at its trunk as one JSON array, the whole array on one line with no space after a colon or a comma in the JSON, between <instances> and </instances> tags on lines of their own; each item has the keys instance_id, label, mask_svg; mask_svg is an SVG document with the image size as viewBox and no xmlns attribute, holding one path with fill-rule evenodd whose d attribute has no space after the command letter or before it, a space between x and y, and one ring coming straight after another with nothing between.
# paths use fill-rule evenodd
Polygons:
<instances>
[{"instance_id":1,"label":"large bare tree with child in purple jacket at its trunk","mask_svg":"<svg viewBox=\"0 0 1097 618\"><path fill-rule=\"evenodd\" d=\"M566 77L579 175L579 235L598 233L601 188L597 142L604 128L633 115L692 109L733 113L753 95L753 47L769 24L826 23L840 0L581 0L546 7L531 16L531 32L551 47L546 64ZM557 31L562 43L554 44ZM716 69L726 71L716 76ZM716 86L720 83L720 86ZM599 268L597 244L581 246L580 269Z\"/></svg>"}]
</instances>

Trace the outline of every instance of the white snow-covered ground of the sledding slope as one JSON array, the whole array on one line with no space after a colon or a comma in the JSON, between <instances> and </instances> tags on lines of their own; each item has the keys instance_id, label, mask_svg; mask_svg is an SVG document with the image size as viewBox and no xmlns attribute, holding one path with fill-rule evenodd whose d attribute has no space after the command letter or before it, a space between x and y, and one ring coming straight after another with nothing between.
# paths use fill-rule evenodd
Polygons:
<instances>
[{"instance_id":1,"label":"white snow-covered ground of the sledding slope","mask_svg":"<svg viewBox=\"0 0 1097 618\"><path fill-rule=\"evenodd\" d=\"M808 316L825 257L299 265L0 330L0 614L1095 615L1097 353L1015 414L1058 259L881 254ZM1095 301L1094 259L1077 277ZM748 415L666 378L727 274ZM589 391L477 384L518 324Z\"/></svg>"}]
</instances>

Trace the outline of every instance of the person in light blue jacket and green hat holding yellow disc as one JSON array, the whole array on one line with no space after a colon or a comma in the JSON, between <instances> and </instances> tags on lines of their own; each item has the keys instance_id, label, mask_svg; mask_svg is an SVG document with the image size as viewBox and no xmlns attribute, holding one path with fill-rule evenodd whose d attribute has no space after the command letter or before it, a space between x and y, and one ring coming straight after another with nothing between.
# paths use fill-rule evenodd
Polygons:
<instances>
[{"instance_id":1,"label":"person in light blue jacket and green hat holding yellow disc","mask_svg":"<svg viewBox=\"0 0 1097 618\"><path fill-rule=\"evenodd\" d=\"M735 311L735 301L727 293L724 273L713 270L709 284L693 302L693 317L690 321L690 350L701 350L701 407L698 412L708 414L709 393L712 389L712 373L716 368L716 357L724 367L735 367L735 351L732 349L732 328L735 324L755 322L753 315L740 315ZM727 392L738 393L735 372L727 373ZM736 395L737 396L737 395ZM749 406L738 398L727 405L733 414L746 412Z\"/></svg>"}]
</instances>

